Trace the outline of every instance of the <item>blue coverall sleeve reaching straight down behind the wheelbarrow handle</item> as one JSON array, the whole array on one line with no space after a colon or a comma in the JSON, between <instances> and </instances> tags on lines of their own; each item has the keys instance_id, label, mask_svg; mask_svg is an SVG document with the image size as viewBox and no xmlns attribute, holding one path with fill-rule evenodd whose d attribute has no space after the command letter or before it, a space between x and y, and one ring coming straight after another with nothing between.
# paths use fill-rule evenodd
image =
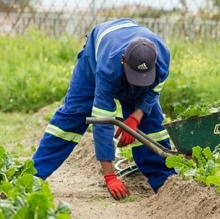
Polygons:
<instances>
[{"instance_id":1,"label":"blue coverall sleeve reaching straight down behind the wheelbarrow handle","mask_svg":"<svg viewBox=\"0 0 220 219\"><path fill-rule=\"evenodd\" d=\"M96 88L92 116L96 118L114 118L116 116L114 85L111 81L107 80L104 74L101 72L96 73ZM95 152L97 160L112 161L115 159L113 135L113 125L93 125L93 137L95 140Z\"/></svg>"}]
</instances>

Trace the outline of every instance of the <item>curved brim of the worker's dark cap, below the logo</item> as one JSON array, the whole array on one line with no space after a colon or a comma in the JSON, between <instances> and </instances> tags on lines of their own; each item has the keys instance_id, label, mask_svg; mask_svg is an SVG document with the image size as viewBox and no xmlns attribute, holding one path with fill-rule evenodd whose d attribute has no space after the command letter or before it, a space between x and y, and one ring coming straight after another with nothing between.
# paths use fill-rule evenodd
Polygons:
<instances>
[{"instance_id":1,"label":"curved brim of the worker's dark cap, below the logo","mask_svg":"<svg viewBox=\"0 0 220 219\"><path fill-rule=\"evenodd\" d=\"M129 67L129 65L125 66L125 74L127 77L127 80L130 84L135 86L150 86L154 83L156 78L156 67L154 66L153 69L147 71L147 72L137 72Z\"/></svg>"}]
</instances>

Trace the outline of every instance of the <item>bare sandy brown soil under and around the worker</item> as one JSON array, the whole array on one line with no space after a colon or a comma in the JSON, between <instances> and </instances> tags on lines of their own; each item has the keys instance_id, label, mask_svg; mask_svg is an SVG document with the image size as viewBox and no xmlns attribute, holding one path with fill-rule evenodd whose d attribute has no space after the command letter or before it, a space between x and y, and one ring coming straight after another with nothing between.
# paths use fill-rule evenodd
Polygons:
<instances>
[{"instance_id":1,"label":"bare sandy brown soil under and around the worker","mask_svg":"<svg viewBox=\"0 0 220 219\"><path fill-rule=\"evenodd\" d=\"M42 130L33 135L39 141L47 122L48 109L34 115ZM33 130L34 132L34 130ZM126 201L115 201L103 183L99 163L95 160L92 135L86 134L63 165L49 177L56 202L70 204L77 219L218 219L220 195L196 182L171 177L154 194L145 177L136 173L123 179L131 193Z\"/></svg>"}]
</instances>

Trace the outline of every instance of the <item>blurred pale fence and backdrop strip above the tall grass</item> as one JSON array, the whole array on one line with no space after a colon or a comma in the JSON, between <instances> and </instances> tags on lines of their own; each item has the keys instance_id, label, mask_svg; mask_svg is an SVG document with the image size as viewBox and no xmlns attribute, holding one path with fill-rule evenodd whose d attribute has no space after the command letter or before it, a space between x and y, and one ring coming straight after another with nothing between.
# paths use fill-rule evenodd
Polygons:
<instances>
[{"instance_id":1,"label":"blurred pale fence and backdrop strip above the tall grass","mask_svg":"<svg viewBox=\"0 0 220 219\"><path fill-rule=\"evenodd\" d=\"M129 17L163 38L220 40L219 0L0 0L0 34L30 26L60 37L84 36L97 23Z\"/></svg>"}]
</instances>

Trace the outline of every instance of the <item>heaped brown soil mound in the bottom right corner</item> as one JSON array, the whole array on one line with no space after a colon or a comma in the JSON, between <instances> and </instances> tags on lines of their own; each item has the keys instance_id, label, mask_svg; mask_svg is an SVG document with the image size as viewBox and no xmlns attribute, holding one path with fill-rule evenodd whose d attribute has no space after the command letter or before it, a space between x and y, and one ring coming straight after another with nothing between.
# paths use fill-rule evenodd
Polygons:
<instances>
[{"instance_id":1,"label":"heaped brown soil mound in the bottom right corner","mask_svg":"<svg viewBox=\"0 0 220 219\"><path fill-rule=\"evenodd\" d=\"M212 188L178 176L170 177L158 194L142 200L141 206L137 214L145 214L145 218L220 218L220 196Z\"/></svg>"}]
</instances>

